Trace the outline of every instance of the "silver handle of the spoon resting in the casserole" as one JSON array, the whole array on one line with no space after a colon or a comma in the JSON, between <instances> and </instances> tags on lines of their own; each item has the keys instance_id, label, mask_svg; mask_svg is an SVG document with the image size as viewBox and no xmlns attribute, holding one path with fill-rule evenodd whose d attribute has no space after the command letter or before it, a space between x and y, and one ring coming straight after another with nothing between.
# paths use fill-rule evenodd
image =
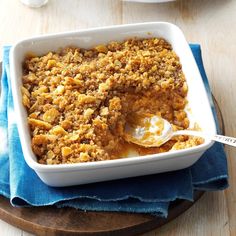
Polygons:
<instances>
[{"instance_id":1,"label":"silver handle of the spoon resting in the casserole","mask_svg":"<svg viewBox=\"0 0 236 236\"><path fill-rule=\"evenodd\" d=\"M202 138L207 138L207 139L211 139L220 143L224 143L233 147L236 147L236 138L234 137L229 137L229 136L224 136L224 135L213 135L210 136L208 134L205 134L203 132L200 131L194 131L194 130L178 130L175 131L174 136L176 135L189 135L189 136L198 136L198 137L202 137Z\"/></svg>"}]
</instances>

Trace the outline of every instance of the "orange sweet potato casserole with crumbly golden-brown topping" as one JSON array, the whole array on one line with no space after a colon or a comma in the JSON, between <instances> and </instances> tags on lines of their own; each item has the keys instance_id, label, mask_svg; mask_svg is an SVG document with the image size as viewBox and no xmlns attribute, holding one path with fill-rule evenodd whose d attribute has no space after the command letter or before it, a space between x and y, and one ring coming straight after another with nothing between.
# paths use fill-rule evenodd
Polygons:
<instances>
[{"instance_id":1,"label":"orange sweet potato casserole with crumbly golden-brown topping","mask_svg":"<svg viewBox=\"0 0 236 236\"><path fill-rule=\"evenodd\" d=\"M161 38L67 47L24 61L23 104L32 149L42 164L111 160L199 145L178 136L158 148L124 140L127 119L159 114L174 130L187 129L188 87L178 56Z\"/></svg>"}]
</instances>

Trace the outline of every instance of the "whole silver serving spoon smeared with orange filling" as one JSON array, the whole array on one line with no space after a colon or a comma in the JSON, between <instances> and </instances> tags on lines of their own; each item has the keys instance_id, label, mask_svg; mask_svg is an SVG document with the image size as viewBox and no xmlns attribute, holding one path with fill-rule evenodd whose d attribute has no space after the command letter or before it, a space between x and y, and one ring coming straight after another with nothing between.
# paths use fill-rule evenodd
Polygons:
<instances>
[{"instance_id":1,"label":"whole silver serving spoon smeared with orange filling","mask_svg":"<svg viewBox=\"0 0 236 236\"><path fill-rule=\"evenodd\" d=\"M135 114L133 118L126 123L124 139L127 142L135 143L144 147L160 147L172 137L177 135L197 136L208 140L214 140L236 147L236 138L207 134L194 130L174 131L172 125L158 115L153 114Z\"/></svg>"}]
</instances>

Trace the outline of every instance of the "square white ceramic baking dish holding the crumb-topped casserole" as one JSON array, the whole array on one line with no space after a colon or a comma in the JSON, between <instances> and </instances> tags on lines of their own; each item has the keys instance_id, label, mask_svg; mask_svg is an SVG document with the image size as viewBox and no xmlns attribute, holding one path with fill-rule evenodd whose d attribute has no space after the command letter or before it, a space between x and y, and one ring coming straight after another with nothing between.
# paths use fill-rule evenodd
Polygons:
<instances>
[{"instance_id":1,"label":"square white ceramic baking dish holding the crumb-topped casserole","mask_svg":"<svg viewBox=\"0 0 236 236\"><path fill-rule=\"evenodd\" d=\"M197 121L203 131L216 134L213 114L201 75L189 45L177 26L165 22L153 22L87 29L26 39L18 42L10 54L13 99L25 160L46 184L70 186L178 170L194 164L213 144L212 141L205 140L203 144L189 149L111 161L61 165L43 165L37 162L31 149L27 113L22 104L21 95L22 62L26 53L34 52L42 55L68 45L91 48L97 44L106 44L111 40L122 41L135 36L163 37L172 45L180 57L189 87L190 120Z\"/></svg>"}]
</instances>

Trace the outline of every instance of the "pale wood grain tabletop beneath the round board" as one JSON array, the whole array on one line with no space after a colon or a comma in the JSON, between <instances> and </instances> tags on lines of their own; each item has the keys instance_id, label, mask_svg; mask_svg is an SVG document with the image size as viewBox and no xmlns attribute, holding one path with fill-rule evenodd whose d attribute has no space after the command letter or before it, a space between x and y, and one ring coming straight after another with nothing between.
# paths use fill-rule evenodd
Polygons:
<instances>
[{"instance_id":1,"label":"pale wood grain tabletop beneath the round board","mask_svg":"<svg viewBox=\"0 0 236 236\"><path fill-rule=\"evenodd\" d=\"M235 0L177 0L162 4L49 0L39 9L28 8L19 0L0 1L0 50L3 45L44 33L145 21L175 23L189 42L201 44L210 85L224 116L226 134L236 136L235 12ZM236 149L226 147L226 151L230 187L204 194L183 215L145 236L236 235ZM0 234L30 235L3 221L0 221Z\"/></svg>"}]
</instances>

